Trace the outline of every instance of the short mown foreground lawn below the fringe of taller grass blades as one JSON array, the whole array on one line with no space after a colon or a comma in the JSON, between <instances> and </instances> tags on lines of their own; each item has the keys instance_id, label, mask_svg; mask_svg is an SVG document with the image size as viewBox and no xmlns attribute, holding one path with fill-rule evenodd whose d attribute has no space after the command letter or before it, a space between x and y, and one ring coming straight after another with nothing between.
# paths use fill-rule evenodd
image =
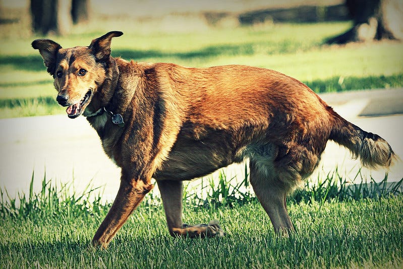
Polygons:
<instances>
[{"instance_id":1,"label":"short mown foreground lawn below the fringe of taller grass blades","mask_svg":"<svg viewBox=\"0 0 403 269\"><path fill-rule=\"evenodd\" d=\"M232 208L186 208L188 223L218 219L221 239L171 238L162 206L143 205L108 249L89 242L107 207L67 205L53 212L3 218L2 268L401 268L403 196L359 201L290 204L296 227L274 234L256 201Z\"/></svg>"}]
</instances>

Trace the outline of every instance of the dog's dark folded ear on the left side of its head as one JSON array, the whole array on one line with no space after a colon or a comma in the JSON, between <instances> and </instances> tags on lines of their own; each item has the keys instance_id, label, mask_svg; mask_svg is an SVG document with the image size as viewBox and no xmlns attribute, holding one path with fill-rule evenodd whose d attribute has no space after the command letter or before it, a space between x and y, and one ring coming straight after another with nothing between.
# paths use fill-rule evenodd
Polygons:
<instances>
[{"instance_id":1,"label":"dog's dark folded ear on the left side of its head","mask_svg":"<svg viewBox=\"0 0 403 269\"><path fill-rule=\"evenodd\" d=\"M56 68L57 51L59 51L62 46L49 39L36 39L31 45L33 48L39 49L39 53L47 67L47 72L53 75Z\"/></svg>"}]
</instances>

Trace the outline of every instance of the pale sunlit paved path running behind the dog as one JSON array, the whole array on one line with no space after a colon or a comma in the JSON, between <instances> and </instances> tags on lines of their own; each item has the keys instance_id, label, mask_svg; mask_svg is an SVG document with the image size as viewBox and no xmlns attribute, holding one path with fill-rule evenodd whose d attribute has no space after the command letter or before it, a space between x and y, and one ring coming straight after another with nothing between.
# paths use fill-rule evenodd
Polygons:
<instances>
[{"instance_id":1,"label":"pale sunlit paved path running behind the dog","mask_svg":"<svg viewBox=\"0 0 403 269\"><path fill-rule=\"evenodd\" d=\"M344 118L385 138L403 157L403 115L358 116L403 113L403 89L322 94L321 97ZM0 130L0 186L6 187L11 196L17 191L28 192L33 171L35 190L40 189L46 171L46 179L52 182L74 179L73 186L78 192L92 179L94 186L105 185L105 199L111 200L116 195L120 170L106 157L97 134L84 117L75 120L66 115L3 119ZM350 158L346 149L329 142L318 172L327 173L336 165L349 178L354 178L359 168L359 163ZM243 169L243 166L231 166L227 173L242 175ZM384 173L372 172L372 175L379 181ZM401 165L389 173L389 180L402 177Z\"/></svg>"}]
</instances>

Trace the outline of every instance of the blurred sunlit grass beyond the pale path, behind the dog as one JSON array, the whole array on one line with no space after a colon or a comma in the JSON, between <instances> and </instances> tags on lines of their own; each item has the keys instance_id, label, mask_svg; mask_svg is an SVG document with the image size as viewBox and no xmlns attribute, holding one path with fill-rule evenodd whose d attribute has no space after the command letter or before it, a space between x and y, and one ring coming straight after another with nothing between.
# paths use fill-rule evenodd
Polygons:
<instances>
[{"instance_id":1,"label":"blurred sunlit grass beyond the pale path, behind the dog","mask_svg":"<svg viewBox=\"0 0 403 269\"><path fill-rule=\"evenodd\" d=\"M125 34L113 39L112 55L192 67L264 67L295 77L316 92L403 86L401 43L324 45L324 40L349 26L346 22L278 24L169 33L120 24L116 30ZM88 45L110 27L100 23L51 38L63 47ZM40 36L0 43L0 118L64 113L52 101L52 78L38 51L30 46L35 38Z\"/></svg>"}]
</instances>

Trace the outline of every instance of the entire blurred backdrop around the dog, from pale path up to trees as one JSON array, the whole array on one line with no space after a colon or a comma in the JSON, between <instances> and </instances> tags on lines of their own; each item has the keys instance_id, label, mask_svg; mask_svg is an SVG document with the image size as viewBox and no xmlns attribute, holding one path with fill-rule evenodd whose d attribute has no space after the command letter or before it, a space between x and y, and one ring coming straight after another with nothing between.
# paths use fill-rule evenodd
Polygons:
<instances>
[{"instance_id":1,"label":"entire blurred backdrop around the dog, from pale path up to trees","mask_svg":"<svg viewBox=\"0 0 403 269\"><path fill-rule=\"evenodd\" d=\"M84 117L55 102L36 38L89 45L111 30L112 56L192 67L243 64L295 77L402 155L403 1L0 1L0 187L10 193L47 178L90 180L113 198L119 169ZM329 143L320 172L360 180L350 153ZM244 166L227 173L244 175ZM34 172L34 175L32 173ZM374 174L377 180L385 171ZM365 173L364 173L365 174ZM314 176L315 178L316 176ZM390 172L403 177L401 167Z\"/></svg>"}]
</instances>

